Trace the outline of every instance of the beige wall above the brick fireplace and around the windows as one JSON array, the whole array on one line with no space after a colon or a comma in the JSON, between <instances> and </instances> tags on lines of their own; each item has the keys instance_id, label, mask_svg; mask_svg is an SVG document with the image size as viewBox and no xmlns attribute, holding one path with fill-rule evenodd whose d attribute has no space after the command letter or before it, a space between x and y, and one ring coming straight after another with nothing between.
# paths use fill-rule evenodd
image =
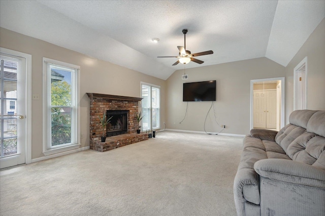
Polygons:
<instances>
[{"instance_id":1,"label":"beige wall above the brick fireplace and around the windows","mask_svg":"<svg viewBox=\"0 0 325 216\"><path fill-rule=\"evenodd\" d=\"M82 46L82 45L80 45ZM32 94L42 96L42 58L55 59L79 65L80 69L80 105L81 105L81 147L89 146L89 98L86 93L141 97L140 82L160 86L161 122L165 121L166 81L140 72L133 71L109 62L95 60L83 54L49 44L43 40L18 34L1 28L0 47L32 55ZM32 101L31 158L43 157L42 99ZM162 124L163 125L163 124ZM163 127L163 126L162 126Z\"/></svg>"}]
</instances>

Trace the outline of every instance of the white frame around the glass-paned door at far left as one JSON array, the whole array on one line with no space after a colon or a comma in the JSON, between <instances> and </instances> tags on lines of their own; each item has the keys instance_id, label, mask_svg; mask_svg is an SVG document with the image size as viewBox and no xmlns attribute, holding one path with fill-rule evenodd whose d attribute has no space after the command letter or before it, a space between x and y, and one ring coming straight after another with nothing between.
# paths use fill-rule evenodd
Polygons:
<instances>
[{"instance_id":1,"label":"white frame around the glass-paned door at far left","mask_svg":"<svg viewBox=\"0 0 325 216\"><path fill-rule=\"evenodd\" d=\"M25 163L31 163L31 55L21 53L6 48L0 48L0 52L12 56L17 56L26 59L26 92L25 92L25 113L26 127L25 127Z\"/></svg>"}]
</instances>

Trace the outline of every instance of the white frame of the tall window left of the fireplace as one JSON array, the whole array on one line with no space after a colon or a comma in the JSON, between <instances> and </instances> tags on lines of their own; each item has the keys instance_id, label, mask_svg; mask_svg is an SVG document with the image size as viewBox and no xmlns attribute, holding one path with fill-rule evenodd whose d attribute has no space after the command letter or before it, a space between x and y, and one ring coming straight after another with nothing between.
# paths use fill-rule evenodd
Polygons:
<instances>
[{"instance_id":1,"label":"white frame of the tall window left of the fireplace","mask_svg":"<svg viewBox=\"0 0 325 216\"><path fill-rule=\"evenodd\" d=\"M72 77L72 116L71 116L71 143L51 146L51 95L48 91L51 86L51 72L48 71L48 63L75 69ZM61 62L53 59L43 58L43 154L51 155L63 151L69 151L80 147L80 66Z\"/></svg>"}]
</instances>

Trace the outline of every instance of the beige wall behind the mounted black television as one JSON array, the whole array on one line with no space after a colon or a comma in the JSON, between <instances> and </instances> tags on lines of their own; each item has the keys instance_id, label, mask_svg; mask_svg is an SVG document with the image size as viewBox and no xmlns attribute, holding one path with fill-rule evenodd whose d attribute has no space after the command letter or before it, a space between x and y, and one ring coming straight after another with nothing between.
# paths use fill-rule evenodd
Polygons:
<instances>
[{"instance_id":1,"label":"beige wall behind the mounted black television","mask_svg":"<svg viewBox=\"0 0 325 216\"><path fill-rule=\"evenodd\" d=\"M250 126L250 80L282 77L285 68L267 58L257 58L200 68L186 69L187 80L182 80L184 70L175 71L167 79L167 128L204 132L204 121L211 102L182 101L183 82L217 81L217 100L214 110L217 122L226 125L222 133L247 134ZM215 121L213 107L206 120L207 132L220 132Z\"/></svg>"}]
</instances>

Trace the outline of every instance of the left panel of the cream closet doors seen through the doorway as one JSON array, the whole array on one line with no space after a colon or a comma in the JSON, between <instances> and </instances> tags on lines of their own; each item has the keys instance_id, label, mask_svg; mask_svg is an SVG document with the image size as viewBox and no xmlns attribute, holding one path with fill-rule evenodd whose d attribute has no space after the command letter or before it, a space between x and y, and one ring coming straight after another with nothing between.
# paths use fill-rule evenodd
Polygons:
<instances>
[{"instance_id":1,"label":"left panel of the cream closet doors seen through the doorway","mask_svg":"<svg viewBox=\"0 0 325 216\"><path fill-rule=\"evenodd\" d=\"M265 92L254 91L253 96L253 113L254 113L254 127L265 128L266 125L266 103Z\"/></svg>"}]
</instances>

